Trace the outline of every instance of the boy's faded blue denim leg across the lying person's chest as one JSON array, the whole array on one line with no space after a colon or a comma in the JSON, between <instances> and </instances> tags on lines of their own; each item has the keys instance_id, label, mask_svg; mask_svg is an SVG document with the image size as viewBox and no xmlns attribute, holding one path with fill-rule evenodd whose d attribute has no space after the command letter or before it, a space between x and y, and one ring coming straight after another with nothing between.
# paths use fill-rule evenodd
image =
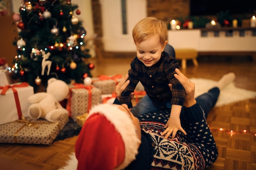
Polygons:
<instances>
[{"instance_id":1,"label":"boy's faded blue denim leg across the lying person's chest","mask_svg":"<svg viewBox=\"0 0 256 170\"><path fill-rule=\"evenodd\" d=\"M145 95L132 109L131 112L134 116L138 116L142 113L148 113L152 110L156 110L157 107L153 105L152 100Z\"/></svg>"}]
</instances>

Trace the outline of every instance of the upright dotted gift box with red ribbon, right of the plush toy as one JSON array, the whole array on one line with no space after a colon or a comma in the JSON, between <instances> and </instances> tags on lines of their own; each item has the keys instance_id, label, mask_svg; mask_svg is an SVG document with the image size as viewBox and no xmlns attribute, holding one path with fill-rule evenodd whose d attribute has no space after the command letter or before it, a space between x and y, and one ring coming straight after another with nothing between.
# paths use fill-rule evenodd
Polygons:
<instances>
[{"instance_id":1,"label":"upright dotted gift box with red ribbon, right of the plush toy","mask_svg":"<svg viewBox=\"0 0 256 170\"><path fill-rule=\"evenodd\" d=\"M92 106L101 103L101 90L84 84L70 85L70 95L67 101L67 110L74 121L76 117L89 113Z\"/></svg>"}]
</instances>

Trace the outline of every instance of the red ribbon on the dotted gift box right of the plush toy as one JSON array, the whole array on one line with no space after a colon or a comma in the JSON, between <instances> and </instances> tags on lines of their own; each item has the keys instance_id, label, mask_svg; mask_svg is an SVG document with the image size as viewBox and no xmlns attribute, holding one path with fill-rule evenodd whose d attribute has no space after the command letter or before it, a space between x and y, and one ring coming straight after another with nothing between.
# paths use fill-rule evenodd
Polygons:
<instances>
[{"instance_id":1,"label":"red ribbon on the dotted gift box right of the plush toy","mask_svg":"<svg viewBox=\"0 0 256 170\"><path fill-rule=\"evenodd\" d=\"M79 83L74 83L72 84L75 87L70 88L70 94L69 94L69 98L67 100L67 106L66 109L69 112L70 117L71 116L71 97L72 97L72 89L76 89L76 88L85 88L86 90L88 90L88 107L87 107L87 112L89 113L91 107L92 107L92 88L94 88L93 86L90 85L84 85L84 84L79 84Z\"/></svg>"}]
</instances>

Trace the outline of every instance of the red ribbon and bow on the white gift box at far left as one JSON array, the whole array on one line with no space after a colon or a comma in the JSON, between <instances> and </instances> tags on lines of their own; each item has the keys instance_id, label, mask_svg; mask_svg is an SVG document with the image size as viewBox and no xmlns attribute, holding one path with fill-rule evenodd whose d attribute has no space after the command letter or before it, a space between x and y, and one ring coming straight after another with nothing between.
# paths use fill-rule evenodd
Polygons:
<instances>
[{"instance_id":1,"label":"red ribbon and bow on the white gift box at far left","mask_svg":"<svg viewBox=\"0 0 256 170\"><path fill-rule=\"evenodd\" d=\"M9 88L13 91L15 103L16 103L16 108L18 112L18 118L22 118L22 112L20 108L20 100L18 96L18 91L16 90L15 87L27 87L29 84L27 82L22 82L21 84L14 84L14 85L6 85L6 86L0 86L0 89L2 89L1 95L5 95L5 93L8 91Z\"/></svg>"}]
</instances>

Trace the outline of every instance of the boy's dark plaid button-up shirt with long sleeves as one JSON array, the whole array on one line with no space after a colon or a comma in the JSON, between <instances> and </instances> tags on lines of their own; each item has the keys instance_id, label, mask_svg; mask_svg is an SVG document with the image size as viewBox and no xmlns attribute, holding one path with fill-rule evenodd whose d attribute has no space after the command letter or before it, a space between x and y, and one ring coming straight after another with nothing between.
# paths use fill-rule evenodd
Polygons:
<instances>
[{"instance_id":1,"label":"boy's dark plaid button-up shirt with long sleeves","mask_svg":"<svg viewBox=\"0 0 256 170\"><path fill-rule=\"evenodd\" d=\"M128 71L130 84L122 92L119 101L132 107L130 93L132 93L140 81L144 86L148 97L154 106L165 108L166 102L183 106L185 90L180 82L174 77L175 68L179 68L175 58L162 52L160 60L151 67L146 67L137 57L132 60ZM172 91L168 84L173 85Z\"/></svg>"}]
</instances>

